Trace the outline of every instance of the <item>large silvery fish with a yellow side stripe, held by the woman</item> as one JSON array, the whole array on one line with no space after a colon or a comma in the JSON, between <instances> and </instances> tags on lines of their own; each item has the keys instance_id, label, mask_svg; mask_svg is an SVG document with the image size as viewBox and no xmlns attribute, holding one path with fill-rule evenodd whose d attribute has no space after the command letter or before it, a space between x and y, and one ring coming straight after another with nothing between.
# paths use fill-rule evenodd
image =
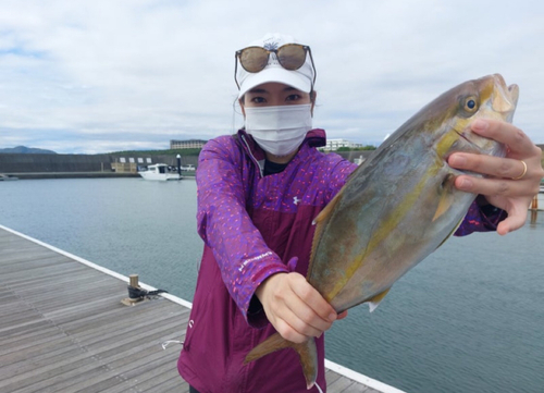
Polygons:
<instances>
[{"instance_id":1,"label":"large silvery fish with a yellow side stripe, held by the woman","mask_svg":"<svg viewBox=\"0 0 544 393\"><path fill-rule=\"evenodd\" d=\"M398 279L455 233L477 195L454 186L467 172L447 159L458 151L505 157L506 146L473 133L470 124L511 123L518 97L519 87L507 86L500 74L465 82L424 106L351 173L314 219L306 275L336 312L362 303L373 311ZM299 354L311 389L318 370L313 339L296 344L274 333L245 361L287 347Z\"/></svg>"}]
</instances>

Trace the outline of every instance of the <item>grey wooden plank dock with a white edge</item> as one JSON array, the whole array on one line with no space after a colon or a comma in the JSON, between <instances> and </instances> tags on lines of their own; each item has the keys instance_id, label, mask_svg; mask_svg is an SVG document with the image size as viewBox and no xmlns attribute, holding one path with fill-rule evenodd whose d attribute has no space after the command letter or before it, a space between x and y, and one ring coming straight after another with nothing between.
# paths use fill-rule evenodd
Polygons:
<instances>
[{"instance_id":1,"label":"grey wooden plank dock with a white edge","mask_svg":"<svg viewBox=\"0 0 544 393\"><path fill-rule=\"evenodd\" d=\"M125 306L127 282L0 225L0 392L188 392L181 346L161 344L184 340L190 304L164 295ZM401 393L327 367L330 393Z\"/></svg>"}]
</instances>

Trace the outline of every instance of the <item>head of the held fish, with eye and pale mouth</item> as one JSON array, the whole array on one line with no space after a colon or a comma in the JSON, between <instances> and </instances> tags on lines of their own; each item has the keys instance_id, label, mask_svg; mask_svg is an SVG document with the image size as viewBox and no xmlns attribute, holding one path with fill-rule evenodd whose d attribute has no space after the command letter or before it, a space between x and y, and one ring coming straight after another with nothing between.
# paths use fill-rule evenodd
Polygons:
<instances>
[{"instance_id":1,"label":"head of the held fish, with eye and pale mouth","mask_svg":"<svg viewBox=\"0 0 544 393\"><path fill-rule=\"evenodd\" d=\"M477 119L511 123L518 105L518 86L508 86L502 75L494 74L466 82L452 91L455 93L449 96L454 99L454 105L450 107L454 113L450 113L452 123L448 132L455 133L452 137L459 140L450 147L454 150L503 157L506 147L472 132L470 124ZM460 146L462 147L459 148Z\"/></svg>"}]
</instances>

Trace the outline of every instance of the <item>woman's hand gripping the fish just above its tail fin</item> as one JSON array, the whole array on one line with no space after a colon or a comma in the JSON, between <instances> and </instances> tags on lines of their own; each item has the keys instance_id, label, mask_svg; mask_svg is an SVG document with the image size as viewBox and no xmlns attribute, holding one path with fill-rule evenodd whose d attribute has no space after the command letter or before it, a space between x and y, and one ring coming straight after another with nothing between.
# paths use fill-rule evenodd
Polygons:
<instances>
[{"instance_id":1,"label":"woman's hand gripping the fish just above its tail fin","mask_svg":"<svg viewBox=\"0 0 544 393\"><path fill-rule=\"evenodd\" d=\"M271 275L259 285L256 295L275 330L295 343L320 336L338 319L334 308L296 272Z\"/></svg>"}]
</instances>

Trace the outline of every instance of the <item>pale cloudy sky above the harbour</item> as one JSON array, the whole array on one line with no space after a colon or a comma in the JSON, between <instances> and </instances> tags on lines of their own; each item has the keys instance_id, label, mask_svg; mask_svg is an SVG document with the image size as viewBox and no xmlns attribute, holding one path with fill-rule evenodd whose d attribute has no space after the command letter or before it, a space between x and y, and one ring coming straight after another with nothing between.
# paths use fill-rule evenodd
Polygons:
<instances>
[{"instance_id":1,"label":"pale cloudy sky above the harbour","mask_svg":"<svg viewBox=\"0 0 544 393\"><path fill-rule=\"evenodd\" d=\"M520 87L514 123L544 144L544 2L0 0L0 148L168 149L243 126L234 52L309 45L313 126L379 145L459 83Z\"/></svg>"}]
</instances>

